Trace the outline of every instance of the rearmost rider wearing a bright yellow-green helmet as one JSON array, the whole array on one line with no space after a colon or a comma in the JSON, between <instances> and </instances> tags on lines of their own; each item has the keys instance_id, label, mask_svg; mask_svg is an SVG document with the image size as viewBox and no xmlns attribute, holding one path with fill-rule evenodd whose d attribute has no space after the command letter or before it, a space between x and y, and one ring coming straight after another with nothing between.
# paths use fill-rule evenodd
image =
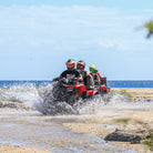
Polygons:
<instances>
[{"instance_id":1,"label":"rearmost rider wearing a bright yellow-green helmet","mask_svg":"<svg viewBox=\"0 0 153 153\"><path fill-rule=\"evenodd\" d=\"M94 64L90 65L90 74L93 76L94 84L101 84L100 73Z\"/></svg>"}]
</instances>

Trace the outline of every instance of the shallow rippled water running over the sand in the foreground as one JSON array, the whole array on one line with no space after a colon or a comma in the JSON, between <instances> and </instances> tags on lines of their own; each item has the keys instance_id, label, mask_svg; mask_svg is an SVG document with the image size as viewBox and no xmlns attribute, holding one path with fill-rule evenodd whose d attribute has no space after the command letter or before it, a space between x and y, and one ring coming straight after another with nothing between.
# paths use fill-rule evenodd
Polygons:
<instances>
[{"instance_id":1,"label":"shallow rippled water running over the sand in the foreground","mask_svg":"<svg viewBox=\"0 0 153 153\"><path fill-rule=\"evenodd\" d=\"M57 153L72 152L124 152L135 153L132 150L115 147L95 136L73 133L62 123L83 122L86 116L110 116L129 114L136 111L152 110L153 103L118 103L99 108L92 114L45 116L37 111L2 111L0 113L0 142L18 145L34 146L39 150L49 150ZM88 123L86 123L88 124ZM103 125L105 129L116 128Z\"/></svg>"}]
</instances>

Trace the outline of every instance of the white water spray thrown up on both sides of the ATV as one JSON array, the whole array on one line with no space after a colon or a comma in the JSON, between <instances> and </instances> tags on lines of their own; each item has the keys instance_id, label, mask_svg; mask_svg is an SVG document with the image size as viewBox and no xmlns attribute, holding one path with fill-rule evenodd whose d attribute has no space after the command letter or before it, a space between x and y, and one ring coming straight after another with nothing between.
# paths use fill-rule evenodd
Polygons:
<instances>
[{"instance_id":1,"label":"white water spray thrown up on both sides of the ATV","mask_svg":"<svg viewBox=\"0 0 153 153\"><path fill-rule=\"evenodd\" d=\"M53 98L53 84L32 83L13 85L11 88L0 88L0 101L11 101L24 103L37 109L45 115L63 114L96 114L101 115L114 109L131 109L147 106L147 102L129 102L123 94L108 93L103 96L96 95L94 99L79 100L73 108L67 102L57 102ZM151 103L151 102L150 102ZM150 105L149 105L150 106Z\"/></svg>"}]
</instances>

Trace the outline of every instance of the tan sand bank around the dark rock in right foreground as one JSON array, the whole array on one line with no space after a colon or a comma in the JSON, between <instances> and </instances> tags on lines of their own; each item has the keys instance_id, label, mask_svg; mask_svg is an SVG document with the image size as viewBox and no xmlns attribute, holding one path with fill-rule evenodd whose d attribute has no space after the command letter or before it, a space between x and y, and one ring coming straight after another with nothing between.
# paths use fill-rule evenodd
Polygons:
<instances>
[{"instance_id":1,"label":"tan sand bank around the dark rock in right foreground","mask_svg":"<svg viewBox=\"0 0 153 153\"><path fill-rule=\"evenodd\" d=\"M129 119L129 123L119 123L118 120ZM132 114L123 114L115 116L89 116L85 120L85 123L64 123L64 126L71 129L71 131L76 133L83 133L88 135L94 135L101 139L104 139L108 134L113 133L114 131L122 130L126 133L136 133L140 135L145 135L150 130L153 130L153 112L151 111L140 111ZM131 144L130 142L116 142L109 141L108 143L118 146L124 147L128 150L134 150L140 152L143 150L143 153L151 152L147 146L143 143Z\"/></svg>"}]
</instances>

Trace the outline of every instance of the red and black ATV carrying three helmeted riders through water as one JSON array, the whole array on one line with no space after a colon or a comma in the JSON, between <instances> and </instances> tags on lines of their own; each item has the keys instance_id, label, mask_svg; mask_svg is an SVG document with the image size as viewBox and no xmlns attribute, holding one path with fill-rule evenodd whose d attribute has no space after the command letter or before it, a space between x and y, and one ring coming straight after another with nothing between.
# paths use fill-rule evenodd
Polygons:
<instances>
[{"instance_id":1,"label":"red and black ATV carrying three helmeted riders through water","mask_svg":"<svg viewBox=\"0 0 153 153\"><path fill-rule=\"evenodd\" d=\"M105 94L109 92L106 84L94 85L94 89L86 90L83 82L78 84L74 81L68 79L58 79L53 84L53 98L55 101L64 101L73 106L73 104L82 99L90 99L96 94ZM106 82L106 81L105 81Z\"/></svg>"}]
</instances>

